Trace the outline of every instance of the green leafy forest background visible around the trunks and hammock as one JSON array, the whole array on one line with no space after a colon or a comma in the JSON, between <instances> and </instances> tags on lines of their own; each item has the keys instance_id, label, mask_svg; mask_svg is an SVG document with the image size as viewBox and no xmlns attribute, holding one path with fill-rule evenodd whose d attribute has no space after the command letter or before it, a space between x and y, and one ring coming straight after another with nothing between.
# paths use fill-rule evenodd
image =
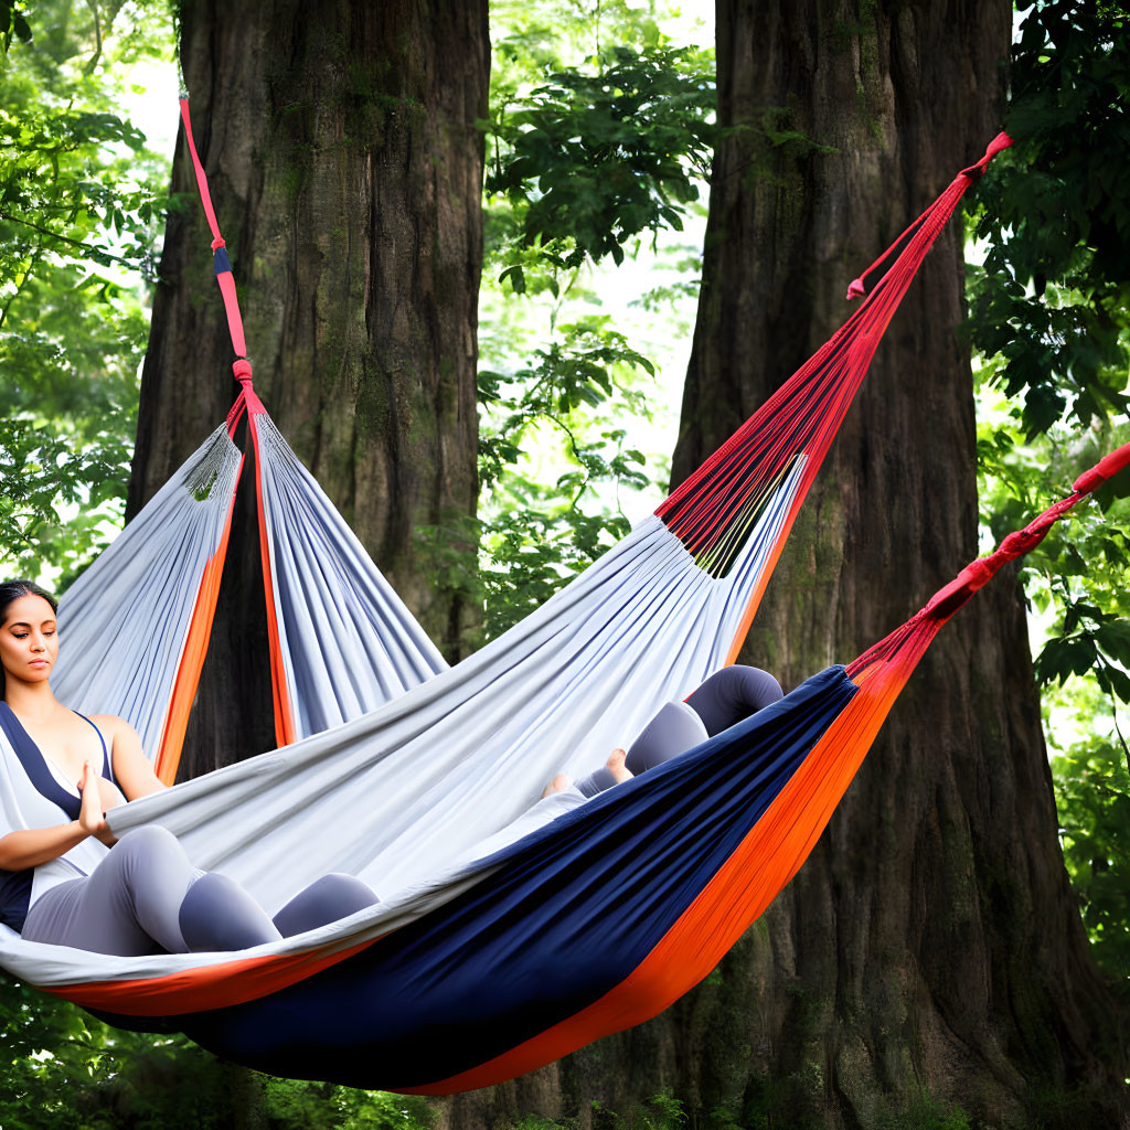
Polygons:
<instances>
[{"instance_id":1,"label":"green leafy forest background visible around the trunks and hammock","mask_svg":"<svg viewBox=\"0 0 1130 1130\"><path fill-rule=\"evenodd\" d=\"M979 185L964 220L983 548L1130 437L1124 18L1106 3L1016 12L1005 125L1019 144ZM414 530L427 584L458 590L471 609L445 641L453 657L542 602L666 490L669 390L685 364L672 341L689 334L703 269L701 235L686 233L702 231L724 140L714 54L679 38L686 27L657 5L492 6L478 512ZM0 2L0 559L7 574L66 588L124 519L166 217L198 205L169 195L167 160L115 112L139 64L172 66L165 8ZM632 121L636 144L624 141L612 112L624 89L649 107ZM832 149L780 116L762 127L766 145L806 160ZM546 137L555 144L531 142ZM982 140L971 139L970 159ZM625 150L645 190L596 191L594 155ZM610 314L602 277L631 292L632 305ZM207 277L197 286L211 297ZM1101 493L1020 572L1063 859L1095 960L1123 1006L1127 493L1119 484ZM10 981L0 1017L6 1123L410 1128L443 1118L398 1096L253 1076L176 1038L106 1028ZM702 1111L676 1094L605 1116L800 1125L807 1115L772 1112L774 1102L796 1112L802 1084L791 1079L777 1098L763 1093L756 1110ZM922 1090L871 1124L974 1121ZM542 1123L529 1115L523 1124Z\"/></svg>"}]
</instances>

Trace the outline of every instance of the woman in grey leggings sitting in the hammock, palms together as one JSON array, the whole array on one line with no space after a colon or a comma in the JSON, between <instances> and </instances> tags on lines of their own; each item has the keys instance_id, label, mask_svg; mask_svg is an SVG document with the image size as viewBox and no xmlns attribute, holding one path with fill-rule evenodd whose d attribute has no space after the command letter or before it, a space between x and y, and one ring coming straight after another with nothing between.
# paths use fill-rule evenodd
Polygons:
<instances>
[{"instance_id":1,"label":"woman in grey leggings sitting in the hammock, palms together","mask_svg":"<svg viewBox=\"0 0 1130 1130\"><path fill-rule=\"evenodd\" d=\"M175 836L148 826L115 841L106 811L164 789L133 728L63 706L55 599L0 584L0 922L29 941L104 954L244 949L313 930L377 902L328 875L273 920L238 884L197 870ZM12 814L18 814L14 816Z\"/></svg>"}]
</instances>

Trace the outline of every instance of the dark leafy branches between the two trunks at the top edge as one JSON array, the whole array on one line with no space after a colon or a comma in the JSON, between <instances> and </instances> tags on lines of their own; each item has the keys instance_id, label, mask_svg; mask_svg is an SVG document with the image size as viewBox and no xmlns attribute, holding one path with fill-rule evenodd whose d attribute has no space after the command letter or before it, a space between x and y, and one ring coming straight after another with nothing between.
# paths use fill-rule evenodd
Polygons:
<instances>
[{"instance_id":1,"label":"dark leafy branches between the two trunks at the top edge","mask_svg":"<svg viewBox=\"0 0 1130 1130\"><path fill-rule=\"evenodd\" d=\"M627 0L492 5L487 198L505 201L507 278L623 261L681 227L709 173L713 50L675 46L666 8Z\"/></svg>"}]
</instances>

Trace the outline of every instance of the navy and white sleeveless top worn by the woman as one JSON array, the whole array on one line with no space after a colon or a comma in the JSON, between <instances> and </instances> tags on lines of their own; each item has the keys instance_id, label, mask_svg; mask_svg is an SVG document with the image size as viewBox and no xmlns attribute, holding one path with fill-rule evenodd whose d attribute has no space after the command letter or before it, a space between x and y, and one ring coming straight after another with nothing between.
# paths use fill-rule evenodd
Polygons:
<instances>
[{"instance_id":1,"label":"navy and white sleeveless top worn by the woman","mask_svg":"<svg viewBox=\"0 0 1130 1130\"><path fill-rule=\"evenodd\" d=\"M90 722L85 714L79 714L79 718ZM106 739L94 722L90 725L102 742L102 776L116 783ZM5 775L10 786L6 792L12 793L5 797L7 802L3 805L5 819L0 824L0 835L18 828L50 827L62 823L60 812L62 818L78 819L81 807L78 790L44 756L12 709L3 701L0 701L0 754L3 755L7 771ZM43 801L55 809L53 815ZM31 823L33 820L35 823ZM97 845L101 852L92 845ZM88 875L107 850L92 836L59 859L40 867L23 871L0 870L0 922L14 930L21 930L35 898L59 883Z\"/></svg>"}]
</instances>

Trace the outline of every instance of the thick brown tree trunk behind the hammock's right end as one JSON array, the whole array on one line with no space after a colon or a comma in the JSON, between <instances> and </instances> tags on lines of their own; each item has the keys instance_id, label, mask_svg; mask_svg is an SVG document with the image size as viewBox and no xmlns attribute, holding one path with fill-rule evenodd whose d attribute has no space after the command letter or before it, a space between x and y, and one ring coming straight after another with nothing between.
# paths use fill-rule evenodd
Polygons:
<instances>
[{"instance_id":1,"label":"thick brown tree trunk behind the hammock's right end","mask_svg":"<svg viewBox=\"0 0 1130 1130\"><path fill-rule=\"evenodd\" d=\"M1000 129L1011 21L1007 0L718 10L732 131L714 163L676 483L832 334L851 279L981 156ZM755 621L744 659L786 688L854 659L976 555L962 319L955 220ZM1014 573L944 629L809 861L703 985L647 1025L457 1098L445 1125L530 1109L600 1124L592 1099L628 1113L669 1088L698 1127L718 1107L741 1127L941 1125L957 1104L992 1127L1110 1128L1128 1119L1121 1023L1057 841Z\"/></svg>"}]
</instances>

